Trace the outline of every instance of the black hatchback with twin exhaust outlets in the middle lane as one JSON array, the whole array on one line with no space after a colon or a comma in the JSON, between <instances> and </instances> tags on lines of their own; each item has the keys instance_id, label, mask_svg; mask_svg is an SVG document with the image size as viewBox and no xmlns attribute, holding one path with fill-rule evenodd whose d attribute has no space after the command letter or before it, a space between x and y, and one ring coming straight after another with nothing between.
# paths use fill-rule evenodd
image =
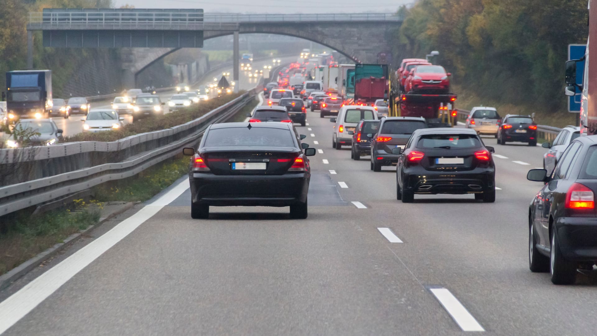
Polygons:
<instances>
[{"instance_id":1,"label":"black hatchback with twin exhaust outlets in the middle lane","mask_svg":"<svg viewBox=\"0 0 597 336\"><path fill-rule=\"evenodd\" d=\"M396 167L396 198L403 203L414 194L475 194L476 200L496 201L494 149L474 130L419 129L413 132Z\"/></svg>"}]
</instances>

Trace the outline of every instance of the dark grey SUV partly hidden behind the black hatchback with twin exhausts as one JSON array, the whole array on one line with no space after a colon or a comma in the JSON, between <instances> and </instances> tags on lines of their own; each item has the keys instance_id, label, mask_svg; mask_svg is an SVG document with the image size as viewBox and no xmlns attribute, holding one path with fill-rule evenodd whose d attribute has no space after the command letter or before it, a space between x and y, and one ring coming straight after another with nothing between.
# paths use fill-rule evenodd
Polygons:
<instances>
[{"instance_id":1,"label":"dark grey SUV partly hidden behind the black hatchback with twin exhausts","mask_svg":"<svg viewBox=\"0 0 597 336\"><path fill-rule=\"evenodd\" d=\"M377 134L371 139L371 170L380 172L381 166L392 166L398 163L400 155L393 154L392 149L404 148L415 130L426 128L427 123L424 118L381 118Z\"/></svg>"}]
</instances>

